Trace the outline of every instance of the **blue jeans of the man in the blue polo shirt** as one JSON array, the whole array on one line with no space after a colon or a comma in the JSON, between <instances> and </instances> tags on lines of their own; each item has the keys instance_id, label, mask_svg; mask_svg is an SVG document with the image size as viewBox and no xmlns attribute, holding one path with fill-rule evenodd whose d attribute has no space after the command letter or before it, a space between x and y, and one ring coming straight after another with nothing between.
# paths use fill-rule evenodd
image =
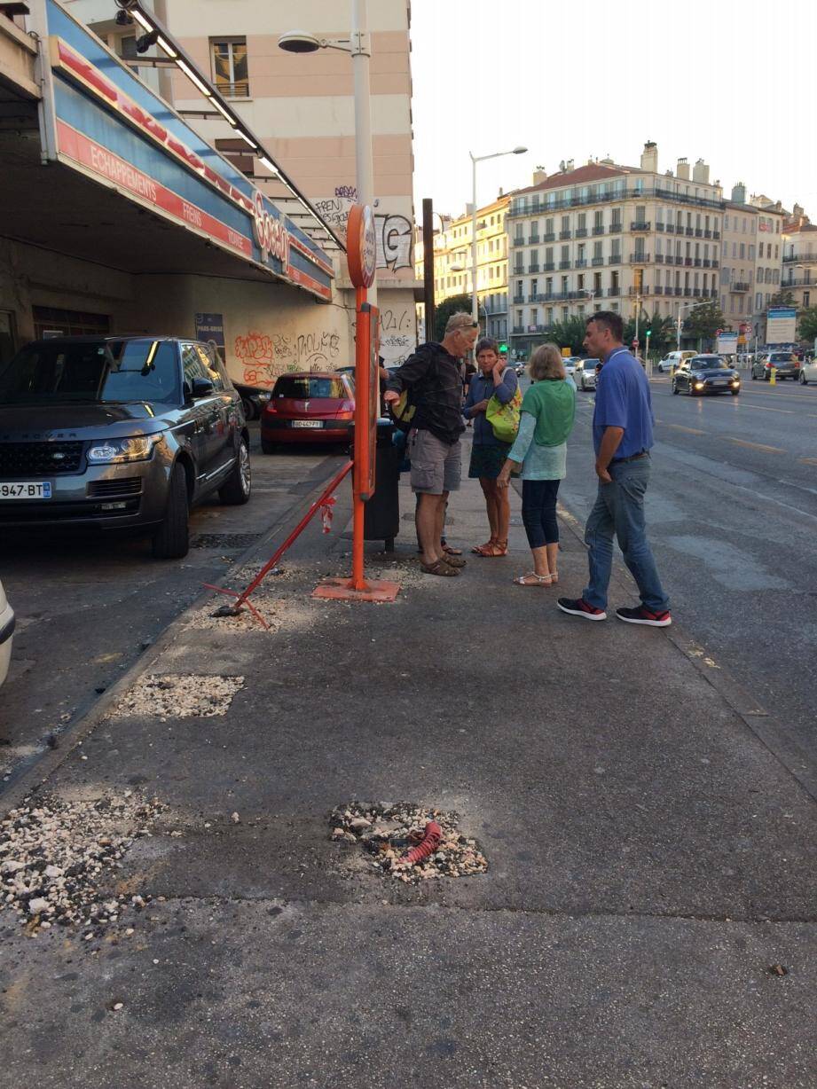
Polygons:
<instances>
[{"instance_id":1,"label":"blue jeans of the man in the blue polo shirt","mask_svg":"<svg viewBox=\"0 0 817 1089\"><path fill-rule=\"evenodd\" d=\"M585 526L584 540L589 549L590 582L582 591L582 597L596 609L607 609L614 535L624 563L638 586L642 603L650 612L663 612L669 609L670 601L658 577L644 522L644 493L650 473L649 455L633 462L613 464L608 472L612 484L599 480L596 503Z\"/></svg>"}]
</instances>

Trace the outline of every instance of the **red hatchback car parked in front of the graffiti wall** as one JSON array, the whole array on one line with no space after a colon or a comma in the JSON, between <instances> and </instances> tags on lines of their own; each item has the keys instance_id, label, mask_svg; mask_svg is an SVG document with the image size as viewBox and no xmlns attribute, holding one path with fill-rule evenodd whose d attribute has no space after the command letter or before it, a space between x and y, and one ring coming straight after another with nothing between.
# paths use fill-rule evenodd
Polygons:
<instances>
[{"instance_id":1,"label":"red hatchback car parked in front of the graffiti wall","mask_svg":"<svg viewBox=\"0 0 817 1089\"><path fill-rule=\"evenodd\" d=\"M261 413L261 450L284 443L349 442L355 416L354 379L337 371L281 375Z\"/></svg>"}]
</instances>

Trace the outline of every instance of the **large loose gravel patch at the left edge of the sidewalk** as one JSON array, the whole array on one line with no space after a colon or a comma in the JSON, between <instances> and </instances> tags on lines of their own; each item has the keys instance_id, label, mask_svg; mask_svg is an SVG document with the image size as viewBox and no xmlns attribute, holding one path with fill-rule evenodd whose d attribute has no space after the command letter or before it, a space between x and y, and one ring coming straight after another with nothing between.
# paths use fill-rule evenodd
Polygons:
<instances>
[{"instance_id":1,"label":"large loose gravel patch at the left edge of the sidewalk","mask_svg":"<svg viewBox=\"0 0 817 1089\"><path fill-rule=\"evenodd\" d=\"M149 895L111 894L103 879L164 807L125 791L94 800L28 797L0 821L0 910L13 911L29 934L53 926L98 937Z\"/></svg>"}]
</instances>

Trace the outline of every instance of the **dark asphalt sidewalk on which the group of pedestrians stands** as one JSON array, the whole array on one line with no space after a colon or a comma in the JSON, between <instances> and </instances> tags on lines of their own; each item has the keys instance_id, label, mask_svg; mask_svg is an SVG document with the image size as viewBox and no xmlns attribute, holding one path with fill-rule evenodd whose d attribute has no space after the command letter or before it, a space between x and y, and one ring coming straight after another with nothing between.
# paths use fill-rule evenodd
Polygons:
<instances>
[{"instance_id":1,"label":"dark asphalt sidewalk on which the group of pedestrians stands","mask_svg":"<svg viewBox=\"0 0 817 1089\"><path fill-rule=\"evenodd\" d=\"M267 584L276 631L187 615L146 656L242 676L223 717L107 719L42 787L159 799L100 879L154 900L87 941L0 913L0 1086L813 1089L813 797L673 629L556 609L575 535L558 591L513 586L516 498L512 555L443 579L406 494L369 568L398 602L312 600L349 565L340 500ZM329 840L353 799L458 811L488 872L385 880Z\"/></svg>"}]
</instances>

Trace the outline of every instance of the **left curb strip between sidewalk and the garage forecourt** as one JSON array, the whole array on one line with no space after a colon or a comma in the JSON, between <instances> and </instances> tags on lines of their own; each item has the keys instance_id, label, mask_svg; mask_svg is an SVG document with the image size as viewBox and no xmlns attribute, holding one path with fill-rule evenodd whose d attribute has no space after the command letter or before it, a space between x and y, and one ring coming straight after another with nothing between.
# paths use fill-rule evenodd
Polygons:
<instances>
[{"instance_id":1,"label":"left curb strip between sidewalk and the garage forecourt","mask_svg":"<svg viewBox=\"0 0 817 1089\"><path fill-rule=\"evenodd\" d=\"M327 477L328 479L329 477ZM219 578L214 579L214 585L225 586L237 571L253 561L257 552L266 550L268 555L271 554L269 546L293 522L293 511L305 511L324 491L327 480L316 484L307 494L298 497L295 504L288 511L285 518L278 518L263 535L260 540L249 544L224 572L220 573ZM149 648L125 670L119 681L111 685L110 688L107 688L90 706L87 706L87 709L80 713L65 732L60 734L59 748L47 749L41 755L34 757L31 763L23 763L20 772L16 775L12 775L10 781L3 784L2 790L0 790L0 817L4 817L10 809L14 809L27 795L36 793L46 783L48 778L68 760L73 750L96 730L122 693L126 692L134 681L143 673L146 673L164 653L168 647L172 646L180 631L184 627L190 613L210 600L212 595L212 590L203 589L191 601L187 608L182 610L168 624ZM222 598L221 600L227 601L229 599Z\"/></svg>"}]
</instances>

